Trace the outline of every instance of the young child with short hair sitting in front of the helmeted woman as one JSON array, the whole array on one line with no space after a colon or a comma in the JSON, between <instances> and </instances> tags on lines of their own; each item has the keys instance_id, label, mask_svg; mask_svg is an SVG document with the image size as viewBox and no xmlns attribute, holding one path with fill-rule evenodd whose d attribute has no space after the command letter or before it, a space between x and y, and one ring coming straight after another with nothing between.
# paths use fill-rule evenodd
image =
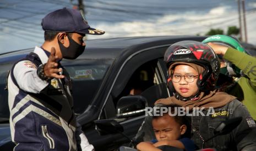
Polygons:
<instances>
[{"instance_id":1,"label":"young child with short hair sitting in front of the helmeted woman","mask_svg":"<svg viewBox=\"0 0 256 151\"><path fill-rule=\"evenodd\" d=\"M187 137L190 135L190 124L186 115L179 116L178 112L176 112L177 114L175 113L175 108L178 108L178 106L162 107L168 108L169 112L162 114L162 116L154 116L152 119L156 140L140 142L137 145L137 149L141 151L155 151L160 150L157 147L167 145L188 151L194 150L193 141ZM160 109L160 111L162 110Z\"/></svg>"}]
</instances>

